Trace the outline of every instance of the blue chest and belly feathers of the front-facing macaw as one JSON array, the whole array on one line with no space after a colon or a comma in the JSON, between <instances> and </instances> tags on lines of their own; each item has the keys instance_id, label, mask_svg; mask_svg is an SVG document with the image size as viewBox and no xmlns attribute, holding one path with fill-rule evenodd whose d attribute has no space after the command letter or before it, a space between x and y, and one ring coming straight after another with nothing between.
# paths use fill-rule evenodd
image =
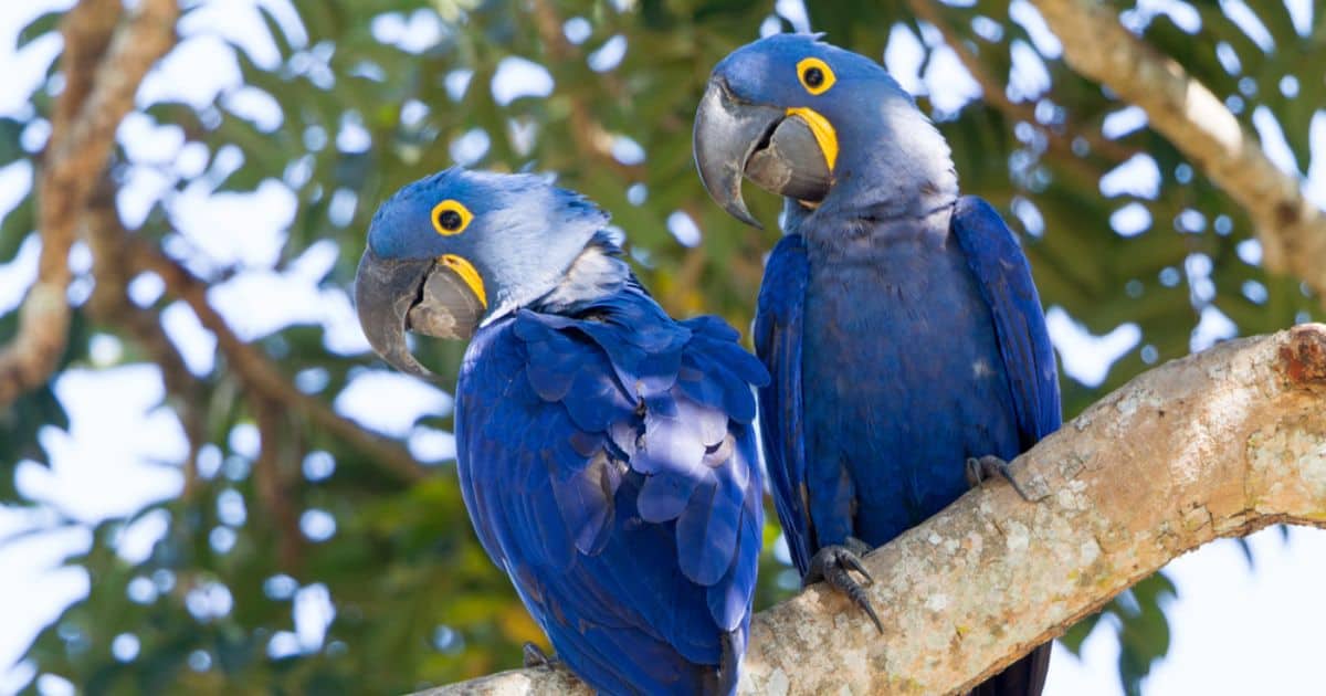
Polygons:
<instances>
[{"instance_id":1,"label":"blue chest and belly feathers of the front-facing macaw","mask_svg":"<svg viewBox=\"0 0 1326 696\"><path fill-rule=\"evenodd\" d=\"M802 394L818 544L850 534L875 546L961 496L967 457L1017 455L1008 378L947 215L865 235L818 229L808 260Z\"/></svg>"}]
</instances>

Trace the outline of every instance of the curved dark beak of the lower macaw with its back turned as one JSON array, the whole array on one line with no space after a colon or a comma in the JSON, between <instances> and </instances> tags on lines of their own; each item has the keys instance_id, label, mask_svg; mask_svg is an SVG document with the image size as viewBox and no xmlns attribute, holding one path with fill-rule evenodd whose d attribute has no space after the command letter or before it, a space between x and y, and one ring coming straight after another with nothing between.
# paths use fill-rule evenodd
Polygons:
<instances>
[{"instance_id":1,"label":"curved dark beak of the lower macaw with its back turned","mask_svg":"<svg viewBox=\"0 0 1326 696\"><path fill-rule=\"evenodd\" d=\"M432 259L382 259L363 252L354 305L369 345L400 371L431 378L406 343L406 331L467 339L483 318L483 298L453 266Z\"/></svg>"}]
</instances>

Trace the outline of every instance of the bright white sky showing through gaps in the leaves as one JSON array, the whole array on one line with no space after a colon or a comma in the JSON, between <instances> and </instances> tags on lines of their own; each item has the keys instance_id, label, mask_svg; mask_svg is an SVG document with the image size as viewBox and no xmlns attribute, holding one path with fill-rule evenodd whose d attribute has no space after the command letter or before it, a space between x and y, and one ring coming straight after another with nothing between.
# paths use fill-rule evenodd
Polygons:
<instances>
[{"instance_id":1,"label":"bright white sky showing through gaps in the leaves","mask_svg":"<svg viewBox=\"0 0 1326 696\"><path fill-rule=\"evenodd\" d=\"M179 46L164 65L149 76L139 93L139 103L174 97L203 106L220 95L257 122L278 122L281 114L274 102L240 85L233 54L221 41L224 37L244 46L260 65L277 61L276 49L253 11L256 3L267 5L278 17L288 20L292 16L282 0L204 3L206 7L190 13L182 25L184 38ZM0 66L5 70L4 85L0 85L0 115L30 113L28 95L60 50L58 38L46 37L15 53L17 30L41 12L69 4L70 0L0 3ZM1231 16L1242 17L1240 21L1248 23L1249 32L1256 33L1256 20L1248 19L1246 5L1240 0L1221 4ZM1307 1L1296 0L1292 7L1296 23L1309 27ZM777 8L794 25L805 27L805 12L798 0L780 0ZM1158 12L1170 13L1180 25L1191 24L1196 17L1183 3L1154 0L1142 3L1142 9L1126 19L1146 21L1148 13ZM1012 16L1032 30L1038 50L1058 54L1058 41L1044 29L1029 4L1016 0ZM761 30L768 32L776 24L765 23ZM574 20L566 25L573 40L582 29ZM381 40L419 50L436 40L438 27L422 16L408 20L391 16L377 21L374 32ZM915 93L928 91L937 109L953 110L977 98L979 87L948 49L940 49L926 73L919 74L923 45L936 42L934 33L918 37L906 29L894 29L884 61L903 86ZM595 68L607 69L621 60L625 50L629 46L623 41L605 46L590 60ZM1016 46L1013 57L1010 91L1021 95L1042 91L1049 76L1036 50ZM459 80L468 78L460 76ZM936 85L941 89L931 89ZM512 60L499 70L491 87L505 102L518 94L548 94L553 84L538 65ZM1144 126L1146 117L1136 109L1120 109L1111 122L1114 135L1120 135ZM1274 118L1264 110L1254 111L1254 122L1272 158L1290 168L1292 158L1288 158L1288 146ZM1326 118L1313 122L1311 135L1314 154L1321 154L1326 147ZM40 145L45 137L37 126L24 134L29 145ZM353 127L338 134L338 139L354 141L358 137L362 134ZM122 216L131 225L141 221L151 203L170 190L174 178L194 176L206 163L204 152L196 147L180 147L175 129L156 127L145 117L126 119L119 139L135 163L130 184L118 202ZM643 155L634 142L623 139L618 145L623 159ZM471 160L481 155L487 146L487 137L480 133L453 142L451 151L457 160ZM1318 204L1326 204L1326 167L1319 164L1323 160L1326 158L1314 156L1314 167L1305 175L1305 190ZM0 167L0 212L12 209L28 195L30 182L32 171L27 164ZM1102 180L1101 188L1111 196L1130 192L1154 198L1158 182L1155 162L1139 155ZM210 294L241 337L255 339L292 322L313 322L328 327L328 350L363 353L367 346L346 293L318 288L341 253L334 244L328 241L310 247L281 273L271 269L285 239L284 227L293 217L294 204L285 183L269 180L252 195L213 195L206 183L199 184L174 195L167 208L182 239L198 252L194 262L200 265L199 270L236 264L241 268ZM1034 208L1026 215L1020 209L1018 215L1024 220L1036 216ZM1151 220L1146 209L1134 203L1120 205L1114 223L1120 233L1138 233L1150 227ZM1034 229L1032 223L1028 227ZM693 244L700 239L700 231L690 219L670 220L670 228L680 243ZM37 249L37 240L29 239L13 262L0 264L0 313L19 304L23 289L36 273ZM1260 253L1256 243L1245 243L1240 252L1245 259L1256 259ZM346 253L358 253L358 249ZM76 249L72 261L76 270L86 272L89 259L85 249ZM1200 259L1193 262L1200 276ZM1188 270L1193 274L1192 268ZM70 294L81 298L88 289L86 280L82 280L74 284ZM135 300L151 302L159 297L162 286L159 280L149 276L138 278L131 290ZM215 350L211 334L183 306L167 309L164 318L190 369L200 374L210 371ZM1099 383L1110 363L1140 339L1140 331L1134 325L1122 325L1106 335L1093 337L1058 308L1050 309L1049 321L1065 371L1087 383ZM1193 347L1200 349L1227 337L1232 329L1219 312L1203 314ZM94 339L93 357L98 366L114 365L119 354L121 346L114 338ZM176 464L184 456L186 441L175 415L160 406L163 386L154 366L72 370L58 379L56 392L69 411L72 428L68 434L48 428L41 435L53 467L46 469L20 463L16 468L19 489L38 505L33 509L0 506L0 538L37 530L0 545L0 569L4 569L0 573L0 693L21 688L37 676L32 666L16 664L16 660L41 626L57 616L69 602L85 595L86 574L80 569L61 569L58 563L66 554L88 548L91 541L89 525L175 496L182 485ZM387 404L391 408L383 408ZM416 427L414 422L420 414L450 406L447 394L381 370L362 371L335 399L337 410L350 418L392 435L408 435L411 451L428 461L448 459L453 451L452 441L450 435ZM253 453L257 434L251 427L236 428L231 444L239 452ZM220 465L219 457L216 465ZM334 533L334 520L320 513L306 510L301 522L310 537L326 538ZM243 514L243 509L237 514ZM76 524L48 529L61 517ZM163 533L163 525L160 517L146 516L127 528L118 546L121 555L131 561L146 558L152 542ZM1170 566L1179 587L1179 599L1168 612L1174 644L1170 659L1158 666L1146 683L1148 693L1292 693L1319 684L1318 644L1321 627L1326 626L1326 602L1321 601L1321 582L1326 578L1326 534L1296 529L1284 542L1278 532L1269 530L1252 537L1250 542L1254 570L1232 542L1207 546ZM289 631L277 634L272 652L317 648L334 615L326 589L321 585L292 587L292 593ZM229 594L221 587L200 597L198 607L199 611L225 612L229 602ZM125 647L122 644L117 650ZM1057 648L1048 693L1118 693L1115 660L1115 640L1105 631L1097 631L1086 643L1081 662ZM49 675L38 677L37 684L44 693L73 693L70 684Z\"/></svg>"}]
</instances>

